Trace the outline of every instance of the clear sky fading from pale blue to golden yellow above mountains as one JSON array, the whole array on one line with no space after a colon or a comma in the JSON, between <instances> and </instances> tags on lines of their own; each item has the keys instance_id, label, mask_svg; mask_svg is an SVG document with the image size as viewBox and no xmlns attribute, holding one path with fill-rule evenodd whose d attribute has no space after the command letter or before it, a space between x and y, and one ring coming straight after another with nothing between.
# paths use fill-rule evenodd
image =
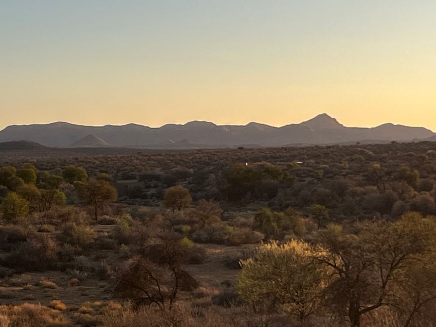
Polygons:
<instances>
[{"instance_id":1,"label":"clear sky fading from pale blue to golden yellow above mountains","mask_svg":"<svg viewBox=\"0 0 436 327\"><path fill-rule=\"evenodd\" d=\"M436 2L0 1L0 128L320 113L436 131Z\"/></svg>"}]
</instances>

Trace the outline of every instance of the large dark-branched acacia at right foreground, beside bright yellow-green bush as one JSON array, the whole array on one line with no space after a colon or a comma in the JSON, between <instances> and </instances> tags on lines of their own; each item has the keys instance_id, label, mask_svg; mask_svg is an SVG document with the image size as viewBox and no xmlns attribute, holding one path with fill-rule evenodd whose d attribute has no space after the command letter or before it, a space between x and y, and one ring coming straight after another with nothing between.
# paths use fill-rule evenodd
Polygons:
<instances>
[{"instance_id":1,"label":"large dark-branched acacia at right foreground, beside bright yellow-green bush","mask_svg":"<svg viewBox=\"0 0 436 327\"><path fill-rule=\"evenodd\" d=\"M434 251L436 239L434 220L417 213L357 227L357 234L346 234L337 225L321 230L320 243L326 252L316 256L336 276L326 291L330 307L346 315L352 326L360 326L363 314L393 303L399 277L422 264L422 257Z\"/></svg>"}]
</instances>

